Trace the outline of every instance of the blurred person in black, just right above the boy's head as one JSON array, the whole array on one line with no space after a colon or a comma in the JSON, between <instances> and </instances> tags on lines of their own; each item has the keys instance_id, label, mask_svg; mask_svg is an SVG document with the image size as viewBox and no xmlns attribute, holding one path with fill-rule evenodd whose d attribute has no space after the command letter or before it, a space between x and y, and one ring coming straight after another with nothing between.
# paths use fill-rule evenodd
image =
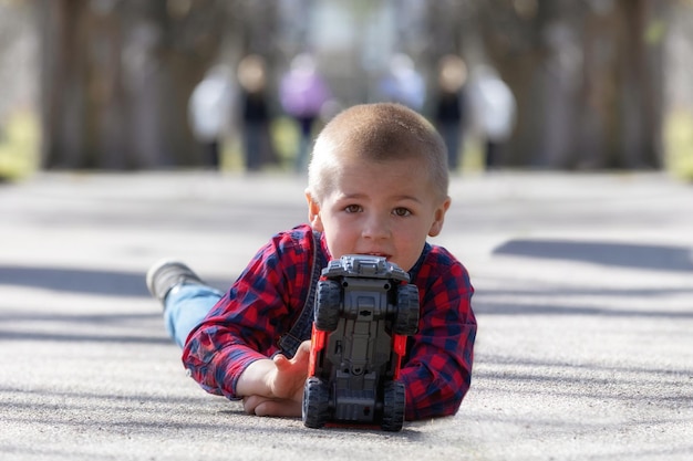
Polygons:
<instances>
[{"instance_id":1,"label":"blurred person in black, just right above the boy's head","mask_svg":"<svg viewBox=\"0 0 693 461\"><path fill-rule=\"evenodd\" d=\"M447 160L451 171L457 170L461 146L464 148L466 81L467 66L462 57L453 54L441 57L434 119L447 146Z\"/></svg>"}]
</instances>

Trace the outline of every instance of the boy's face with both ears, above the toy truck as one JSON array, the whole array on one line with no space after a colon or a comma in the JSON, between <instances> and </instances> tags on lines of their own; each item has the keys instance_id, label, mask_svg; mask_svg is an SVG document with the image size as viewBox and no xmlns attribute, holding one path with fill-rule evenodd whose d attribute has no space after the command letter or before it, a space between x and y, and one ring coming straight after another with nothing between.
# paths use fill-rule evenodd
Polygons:
<instances>
[{"instance_id":1,"label":"boy's face with both ears, above the toy truck","mask_svg":"<svg viewBox=\"0 0 693 461\"><path fill-rule=\"evenodd\" d=\"M426 237L441 232L449 198L436 196L418 159L351 158L342 166L321 203L307 193L311 226L324 233L334 259L372 254L408 271Z\"/></svg>"}]
</instances>

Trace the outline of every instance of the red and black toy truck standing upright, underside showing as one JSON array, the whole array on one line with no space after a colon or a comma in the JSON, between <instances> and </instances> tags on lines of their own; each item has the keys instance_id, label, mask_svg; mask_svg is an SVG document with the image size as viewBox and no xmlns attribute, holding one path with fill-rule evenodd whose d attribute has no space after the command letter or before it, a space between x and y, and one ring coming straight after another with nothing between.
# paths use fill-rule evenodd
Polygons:
<instances>
[{"instance_id":1,"label":"red and black toy truck standing upright, underside showing","mask_svg":"<svg viewBox=\"0 0 693 461\"><path fill-rule=\"evenodd\" d=\"M303 423L380 426L404 422L397 380L406 337L417 331L418 289L385 258L351 254L330 261L316 293Z\"/></svg>"}]
</instances>

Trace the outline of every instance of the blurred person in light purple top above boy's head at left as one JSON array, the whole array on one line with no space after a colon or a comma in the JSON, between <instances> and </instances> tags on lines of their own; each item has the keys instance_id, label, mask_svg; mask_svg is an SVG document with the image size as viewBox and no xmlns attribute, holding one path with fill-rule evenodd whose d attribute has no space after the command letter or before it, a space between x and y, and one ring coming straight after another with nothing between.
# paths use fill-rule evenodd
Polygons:
<instances>
[{"instance_id":1,"label":"blurred person in light purple top above boy's head at left","mask_svg":"<svg viewBox=\"0 0 693 461\"><path fill-rule=\"evenodd\" d=\"M306 171L313 125L330 98L328 84L318 73L312 55L301 53L293 57L289 72L281 80L279 96L282 109L299 126L296 170Z\"/></svg>"}]
</instances>

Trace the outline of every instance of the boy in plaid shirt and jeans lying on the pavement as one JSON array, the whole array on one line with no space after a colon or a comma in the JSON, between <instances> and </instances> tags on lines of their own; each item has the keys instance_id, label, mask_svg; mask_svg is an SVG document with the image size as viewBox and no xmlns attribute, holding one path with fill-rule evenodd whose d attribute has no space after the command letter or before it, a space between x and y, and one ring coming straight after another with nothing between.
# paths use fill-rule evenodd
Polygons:
<instances>
[{"instance_id":1,"label":"boy in plaid shirt and jeans lying on the pavement","mask_svg":"<svg viewBox=\"0 0 693 461\"><path fill-rule=\"evenodd\" d=\"M175 261L147 273L193 378L242 398L248 413L300 416L320 271L343 254L373 254L420 291L418 333L400 373L405 418L454 415L472 379L476 319L467 271L426 242L451 203L447 175L443 140L415 112L384 103L337 115L313 148L309 224L275 235L226 294Z\"/></svg>"}]
</instances>

